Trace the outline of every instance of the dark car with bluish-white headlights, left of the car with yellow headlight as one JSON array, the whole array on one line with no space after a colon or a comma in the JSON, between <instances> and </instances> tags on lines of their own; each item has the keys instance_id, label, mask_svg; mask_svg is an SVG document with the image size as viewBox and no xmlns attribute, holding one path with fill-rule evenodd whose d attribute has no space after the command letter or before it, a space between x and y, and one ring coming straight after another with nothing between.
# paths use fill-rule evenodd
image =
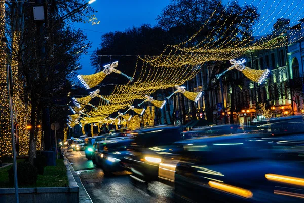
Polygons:
<instances>
[{"instance_id":1,"label":"dark car with bluish-white headlights, left of the car with yellow headlight","mask_svg":"<svg viewBox=\"0 0 304 203\"><path fill-rule=\"evenodd\" d=\"M95 163L103 169L104 174L125 170L120 162L128 154L127 147L132 141L126 139L100 142L99 151L96 153L98 158L96 157Z\"/></svg>"}]
</instances>

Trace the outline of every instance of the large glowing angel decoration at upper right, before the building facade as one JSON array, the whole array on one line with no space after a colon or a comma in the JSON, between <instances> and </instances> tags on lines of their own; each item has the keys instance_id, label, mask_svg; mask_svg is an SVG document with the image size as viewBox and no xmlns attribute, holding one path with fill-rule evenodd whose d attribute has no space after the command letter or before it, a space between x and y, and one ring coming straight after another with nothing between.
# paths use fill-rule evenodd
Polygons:
<instances>
[{"instance_id":1,"label":"large glowing angel decoration at upper right, before the building facade","mask_svg":"<svg viewBox=\"0 0 304 203\"><path fill-rule=\"evenodd\" d=\"M222 75L224 75L227 71L232 70L232 69L237 69L238 71L241 71L249 80L253 82L257 82L258 84L262 84L267 78L269 74L269 70L255 70L255 69L250 69L249 67L246 67L244 63L246 62L245 59L241 59L236 61L235 59L231 59L229 61L232 66L226 69L224 72L215 75L217 79L219 79Z\"/></svg>"}]
</instances>

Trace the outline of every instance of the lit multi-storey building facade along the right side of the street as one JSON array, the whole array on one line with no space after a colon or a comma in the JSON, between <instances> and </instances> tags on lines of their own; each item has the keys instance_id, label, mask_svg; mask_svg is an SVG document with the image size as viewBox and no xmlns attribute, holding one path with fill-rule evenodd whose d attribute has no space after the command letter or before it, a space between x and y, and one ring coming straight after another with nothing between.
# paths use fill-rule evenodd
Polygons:
<instances>
[{"instance_id":1,"label":"lit multi-storey building facade along the right side of the street","mask_svg":"<svg viewBox=\"0 0 304 203\"><path fill-rule=\"evenodd\" d=\"M204 64L201 72L185 84L187 90L193 92L209 88L207 101L213 110L215 123L223 123L223 117L227 118L225 123L232 123L231 118L234 123L244 124L250 124L255 119L263 120L259 103L266 103L267 108L272 110L273 117L301 113L304 97L304 19L299 22L285 30L284 36L288 40L288 46L248 51L238 58L244 58L245 65L251 69L270 70L268 78L261 85L250 81L237 70L227 72L222 77L222 85L219 82L210 85L211 80L215 78L212 73L214 65L219 63ZM193 119L193 115L205 118L205 97L206 95L202 96L194 105L185 98L186 119ZM224 104L224 112L219 111L221 103ZM227 116L229 114L233 116Z\"/></svg>"}]
</instances>

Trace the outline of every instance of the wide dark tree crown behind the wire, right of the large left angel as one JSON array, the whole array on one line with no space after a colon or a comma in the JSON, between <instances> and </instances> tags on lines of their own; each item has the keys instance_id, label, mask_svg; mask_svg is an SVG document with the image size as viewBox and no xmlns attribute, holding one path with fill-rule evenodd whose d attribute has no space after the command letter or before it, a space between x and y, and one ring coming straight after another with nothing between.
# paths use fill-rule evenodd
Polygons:
<instances>
[{"instance_id":1,"label":"wide dark tree crown behind the wire, right of the large left angel","mask_svg":"<svg viewBox=\"0 0 304 203\"><path fill-rule=\"evenodd\" d=\"M103 70L103 65L118 60L118 69L124 74L132 76L137 63L137 55L158 55L164 50L168 42L172 42L172 39L166 31L148 24L128 28L123 32L109 32L101 36L100 47L92 54L91 64L95 67L96 72L100 72ZM100 55L116 56L108 57ZM131 55L131 57L124 57L125 55ZM137 66L142 66L140 60ZM139 73L135 75L136 77L139 77ZM102 81L102 84L125 84L126 82L128 81L124 76L110 74ZM100 94L110 94L110 87L113 86L101 88Z\"/></svg>"}]
</instances>

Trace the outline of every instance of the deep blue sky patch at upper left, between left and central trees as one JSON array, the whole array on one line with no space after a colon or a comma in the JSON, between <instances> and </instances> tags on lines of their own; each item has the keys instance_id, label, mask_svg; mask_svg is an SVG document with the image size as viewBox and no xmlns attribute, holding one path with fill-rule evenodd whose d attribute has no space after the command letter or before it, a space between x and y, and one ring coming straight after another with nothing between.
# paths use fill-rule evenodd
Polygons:
<instances>
[{"instance_id":1,"label":"deep blue sky patch at upper left, between left and central trees","mask_svg":"<svg viewBox=\"0 0 304 203\"><path fill-rule=\"evenodd\" d=\"M80 62L83 69L79 73L85 75L94 73L90 64L90 54L99 46L102 33L124 31L129 27L142 24L155 25L156 17L161 14L162 9L168 4L169 0L96 0L92 3L91 6L98 11L95 15L100 23L98 25L89 23L74 25L75 28L85 29L88 39L93 42L92 47L88 49L88 55L82 55Z\"/></svg>"}]
</instances>

